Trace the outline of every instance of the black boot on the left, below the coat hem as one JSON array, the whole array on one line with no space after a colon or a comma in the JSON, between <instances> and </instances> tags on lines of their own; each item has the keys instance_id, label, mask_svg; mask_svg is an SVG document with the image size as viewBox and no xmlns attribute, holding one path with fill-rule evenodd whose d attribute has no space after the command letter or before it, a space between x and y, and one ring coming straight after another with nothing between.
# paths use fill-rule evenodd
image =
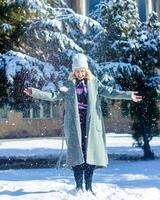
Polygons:
<instances>
[{"instance_id":1,"label":"black boot on the left, below the coat hem","mask_svg":"<svg viewBox=\"0 0 160 200\"><path fill-rule=\"evenodd\" d=\"M83 167L82 165L77 165L75 167L72 167L74 172L74 178L76 182L76 190L82 190L83 191Z\"/></svg>"}]
</instances>

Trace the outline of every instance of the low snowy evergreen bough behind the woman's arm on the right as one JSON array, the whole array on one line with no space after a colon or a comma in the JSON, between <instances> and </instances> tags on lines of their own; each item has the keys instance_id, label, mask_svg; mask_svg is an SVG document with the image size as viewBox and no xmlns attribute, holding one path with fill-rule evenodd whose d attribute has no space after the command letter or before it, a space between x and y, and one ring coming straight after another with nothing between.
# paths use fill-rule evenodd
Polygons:
<instances>
[{"instance_id":1,"label":"low snowy evergreen bough behind the woman's arm on the right","mask_svg":"<svg viewBox=\"0 0 160 200\"><path fill-rule=\"evenodd\" d=\"M145 75L136 65L123 62L104 62L98 66L97 76L104 85L114 87L118 90L133 91L137 87L137 82L144 83ZM135 90L136 91L136 90ZM107 116L109 100L102 98L102 112ZM111 101L114 102L113 100ZM121 101L123 115L130 113L132 102ZM134 104L134 103L133 103Z\"/></svg>"}]
</instances>

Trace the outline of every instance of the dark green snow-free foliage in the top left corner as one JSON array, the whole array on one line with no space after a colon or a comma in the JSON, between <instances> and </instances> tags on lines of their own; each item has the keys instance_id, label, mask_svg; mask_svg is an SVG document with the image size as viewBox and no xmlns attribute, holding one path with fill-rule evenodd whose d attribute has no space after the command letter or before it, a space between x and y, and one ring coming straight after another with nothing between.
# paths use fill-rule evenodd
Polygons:
<instances>
[{"instance_id":1,"label":"dark green snow-free foliage in the top left corner","mask_svg":"<svg viewBox=\"0 0 160 200\"><path fill-rule=\"evenodd\" d=\"M0 53L7 52L19 45L19 37L24 26L33 14L24 3L10 3L0 0Z\"/></svg>"}]
</instances>

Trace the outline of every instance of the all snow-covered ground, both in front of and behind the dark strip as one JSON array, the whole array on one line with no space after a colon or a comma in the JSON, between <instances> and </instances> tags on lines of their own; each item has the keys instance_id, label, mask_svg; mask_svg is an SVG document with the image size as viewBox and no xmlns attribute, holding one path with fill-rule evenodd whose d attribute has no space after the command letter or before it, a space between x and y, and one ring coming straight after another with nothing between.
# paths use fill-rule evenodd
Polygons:
<instances>
[{"instance_id":1,"label":"all snow-covered ground, both in front of and behind the dark strip","mask_svg":"<svg viewBox=\"0 0 160 200\"><path fill-rule=\"evenodd\" d=\"M128 135L107 135L110 154L142 155L132 147ZM159 155L160 138L151 142ZM60 153L61 141L49 138L0 140L1 156L47 156ZM107 168L94 174L93 189L75 193L72 171L66 168L19 169L0 171L0 200L160 200L160 159L129 161L110 159Z\"/></svg>"}]
</instances>

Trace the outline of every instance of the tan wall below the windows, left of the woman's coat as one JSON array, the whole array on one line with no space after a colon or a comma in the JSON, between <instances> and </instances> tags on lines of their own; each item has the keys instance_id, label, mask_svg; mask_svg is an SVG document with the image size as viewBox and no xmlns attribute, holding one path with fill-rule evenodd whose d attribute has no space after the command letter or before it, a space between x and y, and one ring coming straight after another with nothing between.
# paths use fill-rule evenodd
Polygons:
<instances>
[{"instance_id":1,"label":"tan wall below the windows, left of the woman's coat","mask_svg":"<svg viewBox=\"0 0 160 200\"><path fill-rule=\"evenodd\" d=\"M60 136L62 119L24 119L22 113L11 111L0 120L0 138Z\"/></svg>"}]
</instances>

